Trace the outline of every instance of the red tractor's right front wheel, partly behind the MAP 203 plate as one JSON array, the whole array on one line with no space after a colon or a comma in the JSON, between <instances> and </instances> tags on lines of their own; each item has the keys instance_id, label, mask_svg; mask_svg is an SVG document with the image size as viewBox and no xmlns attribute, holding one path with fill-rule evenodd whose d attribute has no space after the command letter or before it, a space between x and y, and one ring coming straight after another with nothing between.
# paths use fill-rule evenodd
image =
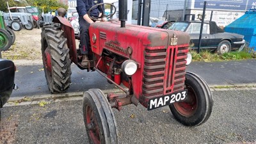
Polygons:
<instances>
[{"instance_id":1,"label":"red tractor's right front wheel, partly behind the MAP 203 plate","mask_svg":"<svg viewBox=\"0 0 256 144\"><path fill-rule=\"evenodd\" d=\"M202 77L186 72L188 95L184 102L175 102L169 107L178 122L187 126L204 124L211 115L212 93Z\"/></svg>"}]
</instances>

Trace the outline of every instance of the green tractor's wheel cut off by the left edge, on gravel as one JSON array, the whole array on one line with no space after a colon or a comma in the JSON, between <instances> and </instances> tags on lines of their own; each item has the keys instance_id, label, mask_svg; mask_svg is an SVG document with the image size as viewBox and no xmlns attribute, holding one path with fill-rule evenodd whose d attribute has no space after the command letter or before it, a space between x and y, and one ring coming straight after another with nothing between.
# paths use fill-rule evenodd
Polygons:
<instances>
[{"instance_id":1,"label":"green tractor's wheel cut off by the left edge, on gravel","mask_svg":"<svg viewBox=\"0 0 256 144\"><path fill-rule=\"evenodd\" d=\"M12 36L5 29L0 29L0 51L6 51L12 45Z\"/></svg>"}]
</instances>

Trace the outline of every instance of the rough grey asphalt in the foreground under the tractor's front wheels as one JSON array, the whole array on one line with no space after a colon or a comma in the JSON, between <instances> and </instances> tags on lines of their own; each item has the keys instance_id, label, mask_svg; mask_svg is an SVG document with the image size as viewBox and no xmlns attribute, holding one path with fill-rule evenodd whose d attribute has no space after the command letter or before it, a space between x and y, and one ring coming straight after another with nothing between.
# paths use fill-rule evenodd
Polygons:
<instances>
[{"instance_id":1,"label":"rough grey asphalt in the foreground under the tractor's front wheels","mask_svg":"<svg viewBox=\"0 0 256 144\"><path fill-rule=\"evenodd\" d=\"M114 109L118 142L256 143L255 93L253 89L213 90L212 115L198 127L179 124L168 107L147 111L141 105L129 105L120 112ZM13 143L88 143L81 96L44 99L48 104L38 99L24 106L20 105L26 100L15 106L7 104L1 109L1 125L12 124L9 139Z\"/></svg>"}]
</instances>

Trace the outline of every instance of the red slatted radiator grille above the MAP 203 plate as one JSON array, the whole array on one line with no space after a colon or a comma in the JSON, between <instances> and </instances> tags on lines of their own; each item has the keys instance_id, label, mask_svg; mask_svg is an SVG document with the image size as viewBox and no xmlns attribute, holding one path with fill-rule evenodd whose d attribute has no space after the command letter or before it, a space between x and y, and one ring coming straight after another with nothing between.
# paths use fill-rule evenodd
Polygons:
<instances>
[{"instance_id":1,"label":"red slatted radiator grille above the MAP 203 plate","mask_svg":"<svg viewBox=\"0 0 256 144\"><path fill-rule=\"evenodd\" d=\"M188 47L145 49L143 95L157 97L184 90L187 53Z\"/></svg>"}]
</instances>

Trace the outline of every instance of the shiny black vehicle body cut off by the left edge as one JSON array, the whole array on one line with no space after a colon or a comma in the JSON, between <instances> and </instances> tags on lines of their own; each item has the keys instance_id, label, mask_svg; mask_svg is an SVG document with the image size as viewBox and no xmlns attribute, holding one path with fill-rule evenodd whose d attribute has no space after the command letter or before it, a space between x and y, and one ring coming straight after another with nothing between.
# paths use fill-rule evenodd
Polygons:
<instances>
[{"instance_id":1,"label":"shiny black vehicle body cut off by the left edge","mask_svg":"<svg viewBox=\"0 0 256 144\"><path fill-rule=\"evenodd\" d=\"M0 59L0 108L3 108L3 105L10 98L13 88L15 88L14 76L15 65L13 61Z\"/></svg>"}]
</instances>

